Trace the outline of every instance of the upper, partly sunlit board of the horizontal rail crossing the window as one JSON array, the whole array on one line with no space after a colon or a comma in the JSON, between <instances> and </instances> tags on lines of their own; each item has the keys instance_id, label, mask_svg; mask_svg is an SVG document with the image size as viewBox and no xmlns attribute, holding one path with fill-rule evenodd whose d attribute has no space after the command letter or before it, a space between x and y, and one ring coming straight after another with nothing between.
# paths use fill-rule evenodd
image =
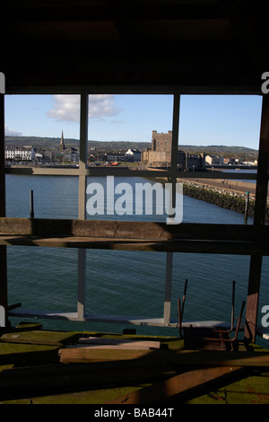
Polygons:
<instances>
[{"instance_id":1,"label":"upper, partly sunlit board of the horizontal rail crossing the window","mask_svg":"<svg viewBox=\"0 0 269 422\"><path fill-rule=\"evenodd\" d=\"M0 218L1 235L93 237L138 240L266 241L269 226L245 224L166 224L154 222Z\"/></svg>"}]
</instances>

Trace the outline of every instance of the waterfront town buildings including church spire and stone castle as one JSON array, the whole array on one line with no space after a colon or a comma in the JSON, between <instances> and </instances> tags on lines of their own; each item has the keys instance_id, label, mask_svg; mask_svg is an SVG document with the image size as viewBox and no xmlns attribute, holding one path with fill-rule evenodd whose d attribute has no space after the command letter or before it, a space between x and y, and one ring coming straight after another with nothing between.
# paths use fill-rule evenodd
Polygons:
<instances>
[{"instance_id":1,"label":"waterfront town buildings including church spire and stone castle","mask_svg":"<svg viewBox=\"0 0 269 422\"><path fill-rule=\"evenodd\" d=\"M168 168L172 149L172 131L158 133L152 131L152 146L145 151L128 149L127 151L101 151L91 147L88 151L88 163L143 163L147 167ZM65 147L62 132L58 148L38 149L34 146L5 148L5 159L11 162L34 163L79 163L80 152L75 147ZM239 159L225 159L219 155L189 154L178 149L178 171L203 170L206 165L239 164Z\"/></svg>"}]
</instances>

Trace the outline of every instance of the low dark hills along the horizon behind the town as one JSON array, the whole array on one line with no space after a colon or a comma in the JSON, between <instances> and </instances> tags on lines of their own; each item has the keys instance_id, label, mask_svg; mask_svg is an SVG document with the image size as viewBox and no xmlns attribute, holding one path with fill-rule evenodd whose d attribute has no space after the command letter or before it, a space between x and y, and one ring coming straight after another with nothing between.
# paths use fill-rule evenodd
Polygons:
<instances>
[{"instance_id":1,"label":"low dark hills along the horizon behind the town","mask_svg":"<svg viewBox=\"0 0 269 422\"><path fill-rule=\"evenodd\" d=\"M57 148L60 145L60 137L39 137L39 136L5 136L5 145L9 147L32 145L38 149ZM151 147L151 142L118 142L118 141L88 141L88 147L95 147L101 150L115 150L126 151L129 148L140 149L143 151L145 148ZM65 146L79 147L78 139L65 139ZM225 145L178 145L178 149L190 154L219 154L223 156L239 156L249 155L257 156L257 150L247 148L245 146L225 146Z\"/></svg>"}]
</instances>

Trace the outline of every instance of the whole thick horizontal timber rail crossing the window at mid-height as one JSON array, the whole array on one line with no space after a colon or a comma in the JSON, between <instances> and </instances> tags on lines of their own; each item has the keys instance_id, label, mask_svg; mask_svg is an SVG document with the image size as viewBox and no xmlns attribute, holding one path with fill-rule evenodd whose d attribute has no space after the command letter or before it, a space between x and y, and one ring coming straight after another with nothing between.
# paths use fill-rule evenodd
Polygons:
<instances>
[{"instance_id":1,"label":"whole thick horizontal timber rail crossing the window at mid-height","mask_svg":"<svg viewBox=\"0 0 269 422\"><path fill-rule=\"evenodd\" d=\"M0 218L0 245L269 255L269 226Z\"/></svg>"}]
</instances>

